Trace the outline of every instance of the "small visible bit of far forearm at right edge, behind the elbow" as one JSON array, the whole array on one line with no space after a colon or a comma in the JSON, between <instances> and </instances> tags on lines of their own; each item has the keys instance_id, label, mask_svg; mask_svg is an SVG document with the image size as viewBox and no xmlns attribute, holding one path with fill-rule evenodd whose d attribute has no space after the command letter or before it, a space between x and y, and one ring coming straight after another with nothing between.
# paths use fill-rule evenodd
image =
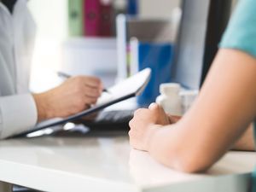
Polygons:
<instances>
[{"instance_id":1,"label":"small visible bit of far forearm at right edge, behind the elbow","mask_svg":"<svg viewBox=\"0 0 256 192\"><path fill-rule=\"evenodd\" d=\"M249 125L247 131L236 142L232 149L241 151L255 151L253 140L253 124Z\"/></svg>"}]
</instances>

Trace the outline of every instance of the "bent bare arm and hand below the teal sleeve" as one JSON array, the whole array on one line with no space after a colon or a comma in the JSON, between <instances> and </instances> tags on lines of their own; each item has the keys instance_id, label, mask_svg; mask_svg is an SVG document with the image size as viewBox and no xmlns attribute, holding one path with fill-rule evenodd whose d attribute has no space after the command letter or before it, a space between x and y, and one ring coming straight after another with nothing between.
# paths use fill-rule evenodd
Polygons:
<instances>
[{"instance_id":1,"label":"bent bare arm and hand below the teal sleeve","mask_svg":"<svg viewBox=\"0 0 256 192\"><path fill-rule=\"evenodd\" d=\"M183 172L212 166L233 147L256 114L256 59L220 49L195 104L174 125L154 119L156 106L131 120L131 145ZM159 119L158 119L159 120Z\"/></svg>"}]
</instances>

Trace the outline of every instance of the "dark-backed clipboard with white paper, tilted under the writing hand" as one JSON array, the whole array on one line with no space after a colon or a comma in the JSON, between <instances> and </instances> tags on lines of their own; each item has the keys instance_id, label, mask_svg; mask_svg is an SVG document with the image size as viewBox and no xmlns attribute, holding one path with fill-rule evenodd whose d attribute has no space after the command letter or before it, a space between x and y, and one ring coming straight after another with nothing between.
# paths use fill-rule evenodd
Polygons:
<instances>
[{"instance_id":1,"label":"dark-backed clipboard with white paper, tilted under the writing hand","mask_svg":"<svg viewBox=\"0 0 256 192\"><path fill-rule=\"evenodd\" d=\"M131 76L130 78L125 79L119 82L118 84L115 84L112 87L108 88L108 92L103 92L102 96L100 96L98 101L96 102L96 105L92 106L91 108L86 109L83 112L69 116L66 119L59 119L49 124L38 125L29 131L18 133L9 138L26 137L27 134L30 134L35 131L44 130L55 125L64 125L67 122L82 118L86 115L90 115L91 113L96 113L115 103L125 101L134 96L139 96L145 89L146 85L148 84L150 76L151 69L146 68L143 71Z\"/></svg>"}]
</instances>

